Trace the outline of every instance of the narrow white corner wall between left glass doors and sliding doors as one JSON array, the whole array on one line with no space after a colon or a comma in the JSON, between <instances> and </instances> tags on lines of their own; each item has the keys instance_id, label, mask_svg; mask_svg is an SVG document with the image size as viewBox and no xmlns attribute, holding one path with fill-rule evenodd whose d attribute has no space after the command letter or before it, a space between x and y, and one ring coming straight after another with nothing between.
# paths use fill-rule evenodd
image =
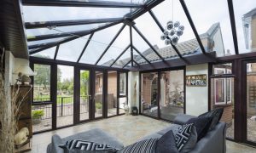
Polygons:
<instances>
[{"instance_id":1,"label":"narrow white corner wall between left glass doors and sliding doors","mask_svg":"<svg viewBox=\"0 0 256 153\"><path fill-rule=\"evenodd\" d=\"M139 72L128 73L128 106L130 111L132 106L139 109Z\"/></svg>"}]
</instances>

